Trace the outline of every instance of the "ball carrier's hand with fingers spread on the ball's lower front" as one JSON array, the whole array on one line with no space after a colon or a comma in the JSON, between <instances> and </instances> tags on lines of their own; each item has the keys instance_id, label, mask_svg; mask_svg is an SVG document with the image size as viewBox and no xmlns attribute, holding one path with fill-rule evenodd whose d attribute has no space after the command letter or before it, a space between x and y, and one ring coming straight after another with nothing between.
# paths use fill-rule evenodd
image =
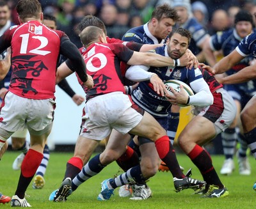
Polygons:
<instances>
[{"instance_id":1,"label":"ball carrier's hand with fingers spread on the ball's lower front","mask_svg":"<svg viewBox=\"0 0 256 209\"><path fill-rule=\"evenodd\" d=\"M166 99L171 102L174 105L186 105L188 102L188 94L184 90L183 86L180 85L180 91L177 92L175 89L172 88L172 86L169 86L171 89L173 95L170 95L169 93L165 95Z\"/></svg>"}]
</instances>

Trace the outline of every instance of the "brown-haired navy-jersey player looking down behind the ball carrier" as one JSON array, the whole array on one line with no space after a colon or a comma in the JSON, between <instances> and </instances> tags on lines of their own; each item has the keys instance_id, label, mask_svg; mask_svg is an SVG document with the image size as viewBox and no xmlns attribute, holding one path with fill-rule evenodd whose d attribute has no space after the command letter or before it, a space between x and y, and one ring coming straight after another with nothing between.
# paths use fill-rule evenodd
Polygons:
<instances>
[{"instance_id":1,"label":"brown-haired navy-jersey player looking down behind the ball carrier","mask_svg":"<svg viewBox=\"0 0 256 209\"><path fill-rule=\"evenodd\" d=\"M168 36L168 34L172 31L172 28L177 20L179 20L179 15L170 5L163 4L157 6L156 9L152 12L150 20L146 24L130 29L127 31L127 33L125 33L122 40L148 44L164 43L166 36ZM128 80L126 79L125 81L127 82ZM130 84L131 81L130 83L127 83ZM170 125L167 132L168 137L172 143L174 141L175 134L179 125L179 111L179 106L172 105L170 112ZM129 147L131 147L133 150L136 150L136 153L138 153L140 156L140 148L136 138L131 140ZM127 159L123 157L118 159L118 164L120 167L124 167L124 165L127 164L125 160ZM164 169L168 170L168 167L162 165L159 167L159 170L161 171L164 171ZM181 169L184 170L183 167L181 167Z\"/></svg>"}]
</instances>

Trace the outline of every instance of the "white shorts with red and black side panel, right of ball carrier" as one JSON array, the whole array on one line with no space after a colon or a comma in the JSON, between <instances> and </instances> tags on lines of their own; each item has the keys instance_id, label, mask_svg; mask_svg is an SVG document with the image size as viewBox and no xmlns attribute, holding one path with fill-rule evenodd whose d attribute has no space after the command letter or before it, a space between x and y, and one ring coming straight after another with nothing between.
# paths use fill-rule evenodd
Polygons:
<instances>
[{"instance_id":1,"label":"white shorts with red and black side panel, right of ball carrier","mask_svg":"<svg viewBox=\"0 0 256 209\"><path fill-rule=\"evenodd\" d=\"M212 93L214 102L208 107L195 107L195 115L204 116L215 125L217 134L224 132L236 117L236 104L228 92L223 89L217 89Z\"/></svg>"}]
</instances>

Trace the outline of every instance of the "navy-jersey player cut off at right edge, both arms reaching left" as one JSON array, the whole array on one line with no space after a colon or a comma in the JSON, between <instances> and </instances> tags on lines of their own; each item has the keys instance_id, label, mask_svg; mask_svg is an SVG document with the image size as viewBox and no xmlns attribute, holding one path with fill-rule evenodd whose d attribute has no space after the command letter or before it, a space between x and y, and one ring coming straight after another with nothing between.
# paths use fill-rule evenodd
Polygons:
<instances>
[{"instance_id":1,"label":"navy-jersey player cut off at right edge, both arms reaching left","mask_svg":"<svg viewBox=\"0 0 256 209\"><path fill-rule=\"evenodd\" d=\"M227 72L232 66L236 65L239 61L252 55L256 58L256 33L252 33L239 43L239 45L230 54L221 59L212 68L204 64L202 68L205 68L212 74L222 74ZM228 75L227 77L218 78L223 84L235 84L241 82L247 82L255 79L255 65L246 66L239 72L233 75ZM256 159L256 96L254 95L249 102L245 105L243 111L241 111L240 118L243 125L244 141L248 144L250 150L252 151L253 157ZM253 189L256 188L256 183L253 185Z\"/></svg>"}]
</instances>

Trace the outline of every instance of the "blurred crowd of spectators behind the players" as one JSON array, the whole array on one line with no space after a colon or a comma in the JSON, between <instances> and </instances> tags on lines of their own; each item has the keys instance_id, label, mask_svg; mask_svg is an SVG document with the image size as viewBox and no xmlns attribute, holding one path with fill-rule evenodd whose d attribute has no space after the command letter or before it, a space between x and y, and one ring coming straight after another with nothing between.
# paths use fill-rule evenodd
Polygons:
<instances>
[{"instance_id":1,"label":"blurred crowd of spectators behind the players","mask_svg":"<svg viewBox=\"0 0 256 209\"><path fill-rule=\"evenodd\" d=\"M19 24L16 3L17 0L8 1L12 21ZM108 36L121 39L131 27L148 22L157 5L172 6L172 0L41 0L40 3L44 14L54 15L58 29L65 31L77 47L81 47L81 42L76 27L85 15L99 17L106 24ZM232 27L234 15L241 8L255 13L256 0L191 0L191 12L209 35Z\"/></svg>"}]
</instances>

